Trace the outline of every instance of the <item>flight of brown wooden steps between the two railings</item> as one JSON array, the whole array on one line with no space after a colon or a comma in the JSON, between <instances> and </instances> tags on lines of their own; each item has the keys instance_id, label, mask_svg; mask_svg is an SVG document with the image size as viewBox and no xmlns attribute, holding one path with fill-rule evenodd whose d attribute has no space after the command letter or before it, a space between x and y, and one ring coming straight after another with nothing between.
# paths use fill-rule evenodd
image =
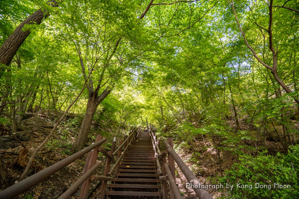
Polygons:
<instances>
[{"instance_id":1,"label":"flight of brown wooden steps between the two railings","mask_svg":"<svg viewBox=\"0 0 299 199\"><path fill-rule=\"evenodd\" d=\"M150 132L137 135L108 185L106 198L161 198L154 148Z\"/></svg>"}]
</instances>

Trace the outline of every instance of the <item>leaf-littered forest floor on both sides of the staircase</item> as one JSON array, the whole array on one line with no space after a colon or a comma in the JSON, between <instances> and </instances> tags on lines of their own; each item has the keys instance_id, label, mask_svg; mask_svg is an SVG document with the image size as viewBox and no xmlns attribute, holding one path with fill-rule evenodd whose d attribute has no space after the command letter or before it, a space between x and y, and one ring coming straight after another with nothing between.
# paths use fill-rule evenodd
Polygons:
<instances>
[{"instance_id":1,"label":"leaf-littered forest floor on both sides of the staircase","mask_svg":"<svg viewBox=\"0 0 299 199\"><path fill-rule=\"evenodd\" d=\"M83 116L70 114L66 121L59 126L46 146L38 152L34 162L35 166L30 171L32 174L69 156L70 147L77 132L79 131L79 125L82 117ZM18 129L18 131L23 133L25 132L31 136L30 140L22 141L23 145L29 149L29 153L25 158L29 159L34 146L38 146L50 133L55 124L56 118L57 117L53 113L44 111L35 113L33 116L22 122L22 127ZM116 136L116 134L116 124L107 125L104 121L94 121L86 146L94 142L97 135L103 135L107 138L107 142L102 146L108 151L111 148L113 137ZM254 148L256 145L262 145L262 142L247 140L246 144ZM266 141L266 146L273 151L284 152L279 142ZM193 138L193 140L189 140L188 142L174 140L174 148L187 166L198 177L201 183L205 185L217 183L217 179L221 176L221 170L223 172L224 170L230 169L232 164L238 161L237 156L233 155L231 152L224 150L220 151L220 170L218 154L216 153L212 142L205 137ZM18 163L15 163L15 159L22 149L22 146L17 146L7 150L0 150L0 156L7 168L7 180L2 188L7 188L13 185L24 171L24 166L22 167L18 165ZM246 153L256 155L257 151L248 150ZM80 159L77 159L67 167L64 167L62 170L56 172L46 180L43 180L41 183L35 185L33 188L30 188L16 198L58 198L70 187L72 183L80 178L85 165L86 156L87 155L82 156ZM105 159L106 158L104 158L104 156L100 157L100 160L104 163L95 172L95 175L103 174ZM186 188L186 183L188 181L177 165L176 179L183 198L197 198L191 188ZM92 185L92 187L95 186L95 184ZM99 191L96 191L90 198L98 198L98 192ZM226 196L225 188L224 190L208 189L208 192L213 196L213 198ZM77 191L71 198L78 198L79 194L80 191Z\"/></svg>"}]
</instances>

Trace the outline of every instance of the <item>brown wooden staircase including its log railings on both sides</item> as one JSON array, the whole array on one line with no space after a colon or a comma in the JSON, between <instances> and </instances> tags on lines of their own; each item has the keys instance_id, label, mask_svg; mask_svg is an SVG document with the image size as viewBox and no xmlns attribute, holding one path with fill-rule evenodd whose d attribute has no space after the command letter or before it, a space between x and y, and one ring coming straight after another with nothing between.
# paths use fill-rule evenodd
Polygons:
<instances>
[{"instance_id":1,"label":"brown wooden staircase including its log railings on both sides","mask_svg":"<svg viewBox=\"0 0 299 199\"><path fill-rule=\"evenodd\" d=\"M139 126L136 129L133 127L130 133L124 136L124 141L119 142L119 146L116 149L117 138L115 137L111 150L108 152L101 146L107 139L98 135L96 142L92 145L2 190L0 198L13 199L17 197L28 188L33 187L88 153L82 176L59 199L70 198L81 185L79 198L86 199L91 181L99 180L102 180L100 196L98 197L101 199L167 199L169 197L171 199L183 199L175 180L175 162L188 182L193 184L200 184L201 182L173 149L172 138L167 138L167 140L163 141L165 150L161 152L155 131L154 125L150 125L150 128ZM93 175L93 172L102 163L97 161L99 152L107 158L103 176ZM113 166L111 163L114 163ZM115 175L111 177L113 173ZM108 181L110 184L108 184ZM198 198L213 199L207 190L203 188L193 188L193 190Z\"/></svg>"}]
</instances>

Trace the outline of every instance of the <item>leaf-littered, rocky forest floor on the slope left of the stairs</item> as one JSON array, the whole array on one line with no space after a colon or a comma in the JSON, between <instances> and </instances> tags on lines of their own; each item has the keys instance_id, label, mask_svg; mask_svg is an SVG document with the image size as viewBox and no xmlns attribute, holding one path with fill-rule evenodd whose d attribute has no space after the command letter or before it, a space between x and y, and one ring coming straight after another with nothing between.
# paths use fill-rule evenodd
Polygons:
<instances>
[{"instance_id":1,"label":"leaf-littered, rocky forest floor on the slope left of the stairs","mask_svg":"<svg viewBox=\"0 0 299 199\"><path fill-rule=\"evenodd\" d=\"M80 117L78 115L76 115L76 118L71 114L68 116L66 121L59 126L46 145L37 153L34 160L34 167L29 171L31 174L49 167L70 155L70 147L79 131L80 119L82 118L83 116ZM27 159L27 162L32 155L34 146L38 146L44 141L55 125L55 122L56 116L53 113L48 112L35 113L29 119L22 122L22 126L18 129L17 133L25 132L31 136L30 140L22 141L22 144L29 149L27 157L24 156L24 158ZM104 121L93 121L90 132L86 146L95 142L97 135L103 135L107 138L107 142L102 144L102 147L108 151L111 148L113 137L117 134L117 127L113 124L106 125ZM10 149L0 149L2 161L7 168L7 180L5 184L3 184L2 189L13 185L24 171L25 166L20 166L18 163L15 163L15 159L22 149L22 146ZM100 153L100 155L102 154ZM58 198L72 183L80 178L86 157L87 154L67 165L60 171L57 171L46 180L41 181L41 183L30 188L16 198ZM104 156L102 155L100 157L100 161L101 160L103 161L103 164L95 171L95 175L102 175L104 172L106 158L104 159ZM25 163L25 165L27 164ZM95 187L96 182L97 181L93 182L94 184L92 184L92 187ZM77 191L71 198L78 198L79 194L80 192Z\"/></svg>"}]
</instances>

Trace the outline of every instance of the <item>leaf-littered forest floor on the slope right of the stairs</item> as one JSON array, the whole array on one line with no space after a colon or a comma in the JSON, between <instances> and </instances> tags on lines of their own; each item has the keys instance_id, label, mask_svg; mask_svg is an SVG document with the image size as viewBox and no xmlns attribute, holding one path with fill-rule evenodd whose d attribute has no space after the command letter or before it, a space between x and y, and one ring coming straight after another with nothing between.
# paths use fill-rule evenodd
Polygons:
<instances>
[{"instance_id":1,"label":"leaf-littered forest floor on the slope right of the stairs","mask_svg":"<svg viewBox=\"0 0 299 199\"><path fill-rule=\"evenodd\" d=\"M296 121L293 121L296 122ZM231 127L235 127L234 120L228 120L231 123ZM241 128L247 129L245 126ZM296 122L295 128L299 129L299 122ZM257 132L254 129L250 129L248 137L251 136L252 139L247 139L245 146L245 153L248 155L256 156L258 152L265 150L261 139L257 137ZM280 132L282 133L282 132ZM283 134L280 135L283 137ZM179 136L173 136L179 137ZM230 170L234 163L239 163L237 155L232 154L231 151L220 150L220 163L217 151L214 148L213 142L209 141L205 136L193 138L192 140L175 140L173 139L174 149L180 156L180 158L186 163L186 165L193 171L195 176L200 180L203 185L213 185L219 184L219 178L225 175L225 170ZM277 152L284 153L284 148L278 141L266 140L266 150L271 151L271 154L275 155ZM238 144L244 144L238 143ZM193 189L186 187L188 183L187 179L183 175L180 168L175 163L176 168L176 181L179 184L180 192L184 194L183 198L196 199L198 198L194 193ZM218 190L214 188L209 188L207 191L213 198L227 198L227 189L225 187Z\"/></svg>"}]
</instances>

